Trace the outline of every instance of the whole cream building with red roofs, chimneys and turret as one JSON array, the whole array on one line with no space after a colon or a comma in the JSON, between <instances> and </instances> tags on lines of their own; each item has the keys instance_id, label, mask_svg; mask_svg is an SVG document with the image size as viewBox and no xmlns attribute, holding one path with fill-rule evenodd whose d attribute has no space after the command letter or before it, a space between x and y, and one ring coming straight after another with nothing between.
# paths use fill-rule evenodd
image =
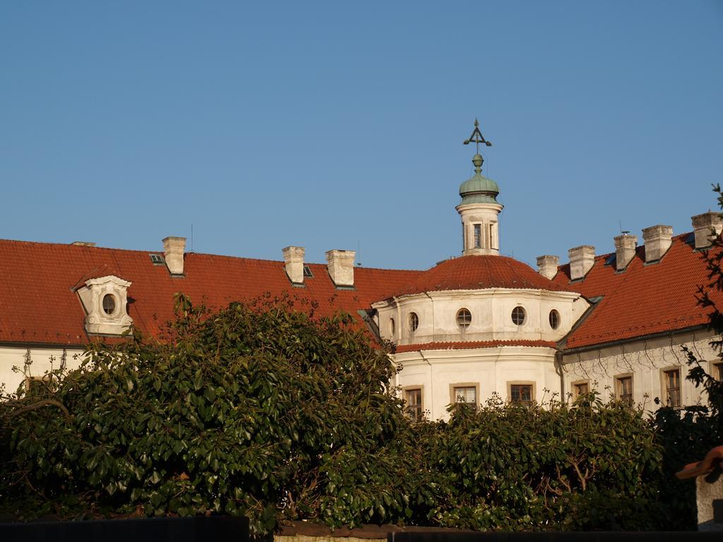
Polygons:
<instances>
[{"instance_id":1,"label":"whole cream building with red roofs, chimneys and turret","mask_svg":"<svg viewBox=\"0 0 723 542\"><path fill-rule=\"evenodd\" d=\"M477 126L469 141L489 145ZM534 270L500 254L500 189L482 175L479 152L472 162L455 207L462 254L425 271L355 267L354 251L343 250L312 264L300 246L283 249L279 262L194 254L181 237L155 252L0 240L0 382L22 392L28 378L78 366L85 345L120 340L131 325L159 335L176 292L212 307L272 293L321 314L359 315L360 327L390 345L414 417L447 418L457 403L493 397L545 403L591 390L651 409L656 400L701 403L685 379L683 347L723 378L696 302L721 216L697 215L693 231L677 236L651 226L639 246L636 236L617 236L608 254L577 246L567 264L541 256Z\"/></svg>"}]
</instances>

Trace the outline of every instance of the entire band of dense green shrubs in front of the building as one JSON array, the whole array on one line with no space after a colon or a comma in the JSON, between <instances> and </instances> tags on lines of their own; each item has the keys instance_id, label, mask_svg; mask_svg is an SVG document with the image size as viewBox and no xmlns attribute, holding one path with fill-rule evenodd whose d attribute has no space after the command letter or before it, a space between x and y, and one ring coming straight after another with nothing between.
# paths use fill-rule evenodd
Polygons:
<instances>
[{"instance_id":1,"label":"entire band of dense green shrubs in front of the building","mask_svg":"<svg viewBox=\"0 0 723 542\"><path fill-rule=\"evenodd\" d=\"M163 340L95 346L80 369L0 404L0 509L247 515L256 533L291 519L690 525L691 484L672 473L707 445L709 418L651 421L588 395L411 423L388 356L349 324L269 299L210 313L180 297Z\"/></svg>"}]
</instances>

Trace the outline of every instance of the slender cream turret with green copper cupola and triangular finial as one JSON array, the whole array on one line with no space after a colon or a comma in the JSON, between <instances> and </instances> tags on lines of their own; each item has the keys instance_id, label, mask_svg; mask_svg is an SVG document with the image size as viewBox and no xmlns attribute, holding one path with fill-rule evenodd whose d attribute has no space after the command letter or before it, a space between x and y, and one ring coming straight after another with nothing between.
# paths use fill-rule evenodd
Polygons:
<instances>
[{"instance_id":1,"label":"slender cream turret with green copper cupola and triangular finial","mask_svg":"<svg viewBox=\"0 0 723 542\"><path fill-rule=\"evenodd\" d=\"M462 236L464 256L475 254L500 254L500 229L498 215L504 207L497 202L500 188L495 181L482 175L484 158L479 154L479 144L492 147L492 143L482 137L479 122L474 119L474 132L464 144L475 143L477 152L472 158L474 176L459 187L462 202L455 207L462 218Z\"/></svg>"}]
</instances>

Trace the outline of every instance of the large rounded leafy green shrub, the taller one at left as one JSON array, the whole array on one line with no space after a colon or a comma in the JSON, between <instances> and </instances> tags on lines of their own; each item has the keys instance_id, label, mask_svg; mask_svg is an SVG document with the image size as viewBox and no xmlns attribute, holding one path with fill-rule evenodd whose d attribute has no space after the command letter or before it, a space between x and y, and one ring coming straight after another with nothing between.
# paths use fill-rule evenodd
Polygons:
<instances>
[{"instance_id":1,"label":"large rounded leafy green shrub, the taller one at left","mask_svg":"<svg viewBox=\"0 0 723 542\"><path fill-rule=\"evenodd\" d=\"M244 514L257 533L403 512L414 465L393 366L348 315L304 309L180 296L162 340L93 345L56 389L5 403L4 508Z\"/></svg>"}]
</instances>

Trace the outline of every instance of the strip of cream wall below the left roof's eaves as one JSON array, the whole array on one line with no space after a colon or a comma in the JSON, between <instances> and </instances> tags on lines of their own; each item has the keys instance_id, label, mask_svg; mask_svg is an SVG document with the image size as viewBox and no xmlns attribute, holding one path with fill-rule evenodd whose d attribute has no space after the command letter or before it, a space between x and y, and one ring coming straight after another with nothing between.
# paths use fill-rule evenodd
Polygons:
<instances>
[{"instance_id":1,"label":"strip of cream wall below the left roof's eaves","mask_svg":"<svg viewBox=\"0 0 723 542\"><path fill-rule=\"evenodd\" d=\"M0 383L5 384L5 392L16 392L25 381L25 373L29 377L42 377L63 363L68 369L75 369L80 365L82 353L80 348L0 346ZM32 362L29 365L26 364L28 358Z\"/></svg>"}]
</instances>

